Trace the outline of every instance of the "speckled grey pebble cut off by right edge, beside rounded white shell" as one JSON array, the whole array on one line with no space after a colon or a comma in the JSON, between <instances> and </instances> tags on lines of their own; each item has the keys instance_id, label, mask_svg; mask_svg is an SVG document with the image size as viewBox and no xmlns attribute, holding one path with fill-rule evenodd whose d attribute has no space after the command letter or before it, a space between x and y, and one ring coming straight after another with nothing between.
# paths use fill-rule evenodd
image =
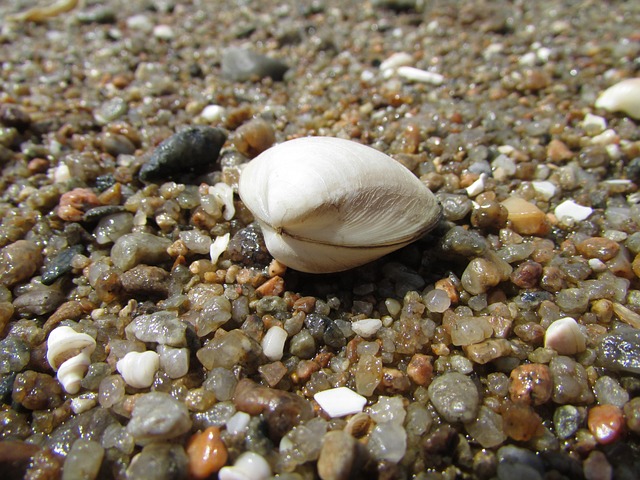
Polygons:
<instances>
[{"instance_id":1,"label":"speckled grey pebble cut off by right edge, beside rounded white shell","mask_svg":"<svg viewBox=\"0 0 640 480\"><path fill-rule=\"evenodd\" d=\"M602 336L596 353L598 362L614 372L640 373L640 330L627 328Z\"/></svg>"}]
</instances>

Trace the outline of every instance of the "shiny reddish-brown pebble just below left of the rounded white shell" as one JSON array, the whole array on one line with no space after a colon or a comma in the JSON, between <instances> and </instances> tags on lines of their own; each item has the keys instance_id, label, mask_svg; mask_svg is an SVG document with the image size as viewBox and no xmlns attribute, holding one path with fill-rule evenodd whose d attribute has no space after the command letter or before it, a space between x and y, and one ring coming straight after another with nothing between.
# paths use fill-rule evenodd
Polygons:
<instances>
[{"instance_id":1,"label":"shiny reddish-brown pebble just below left of the rounded white shell","mask_svg":"<svg viewBox=\"0 0 640 480\"><path fill-rule=\"evenodd\" d=\"M553 393L549 367L541 363L520 365L511 371L509 396L514 403L542 405Z\"/></svg>"}]
</instances>

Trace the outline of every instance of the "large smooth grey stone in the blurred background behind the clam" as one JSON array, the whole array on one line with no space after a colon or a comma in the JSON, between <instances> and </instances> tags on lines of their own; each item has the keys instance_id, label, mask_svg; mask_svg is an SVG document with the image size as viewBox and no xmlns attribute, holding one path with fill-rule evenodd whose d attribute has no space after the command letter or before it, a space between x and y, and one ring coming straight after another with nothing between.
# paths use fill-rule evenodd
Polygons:
<instances>
[{"instance_id":1,"label":"large smooth grey stone in the blurred background behind the clam","mask_svg":"<svg viewBox=\"0 0 640 480\"><path fill-rule=\"evenodd\" d=\"M261 55L253 50L229 47L222 52L222 75L235 82L270 77L284 78L289 66L281 60Z\"/></svg>"}]
</instances>

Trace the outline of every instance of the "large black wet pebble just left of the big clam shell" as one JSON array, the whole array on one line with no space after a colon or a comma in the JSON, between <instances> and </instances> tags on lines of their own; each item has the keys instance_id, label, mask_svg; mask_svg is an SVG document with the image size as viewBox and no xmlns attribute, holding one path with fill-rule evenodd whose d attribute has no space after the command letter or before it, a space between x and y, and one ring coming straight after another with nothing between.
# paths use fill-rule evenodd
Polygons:
<instances>
[{"instance_id":1,"label":"large black wet pebble just left of the big clam shell","mask_svg":"<svg viewBox=\"0 0 640 480\"><path fill-rule=\"evenodd\" d=\"M159 182L185 174L199 175L216 167L227 140L219 128L189 127L164 140L140 169L140 180Z\"/></svg>"}]
</instances>

